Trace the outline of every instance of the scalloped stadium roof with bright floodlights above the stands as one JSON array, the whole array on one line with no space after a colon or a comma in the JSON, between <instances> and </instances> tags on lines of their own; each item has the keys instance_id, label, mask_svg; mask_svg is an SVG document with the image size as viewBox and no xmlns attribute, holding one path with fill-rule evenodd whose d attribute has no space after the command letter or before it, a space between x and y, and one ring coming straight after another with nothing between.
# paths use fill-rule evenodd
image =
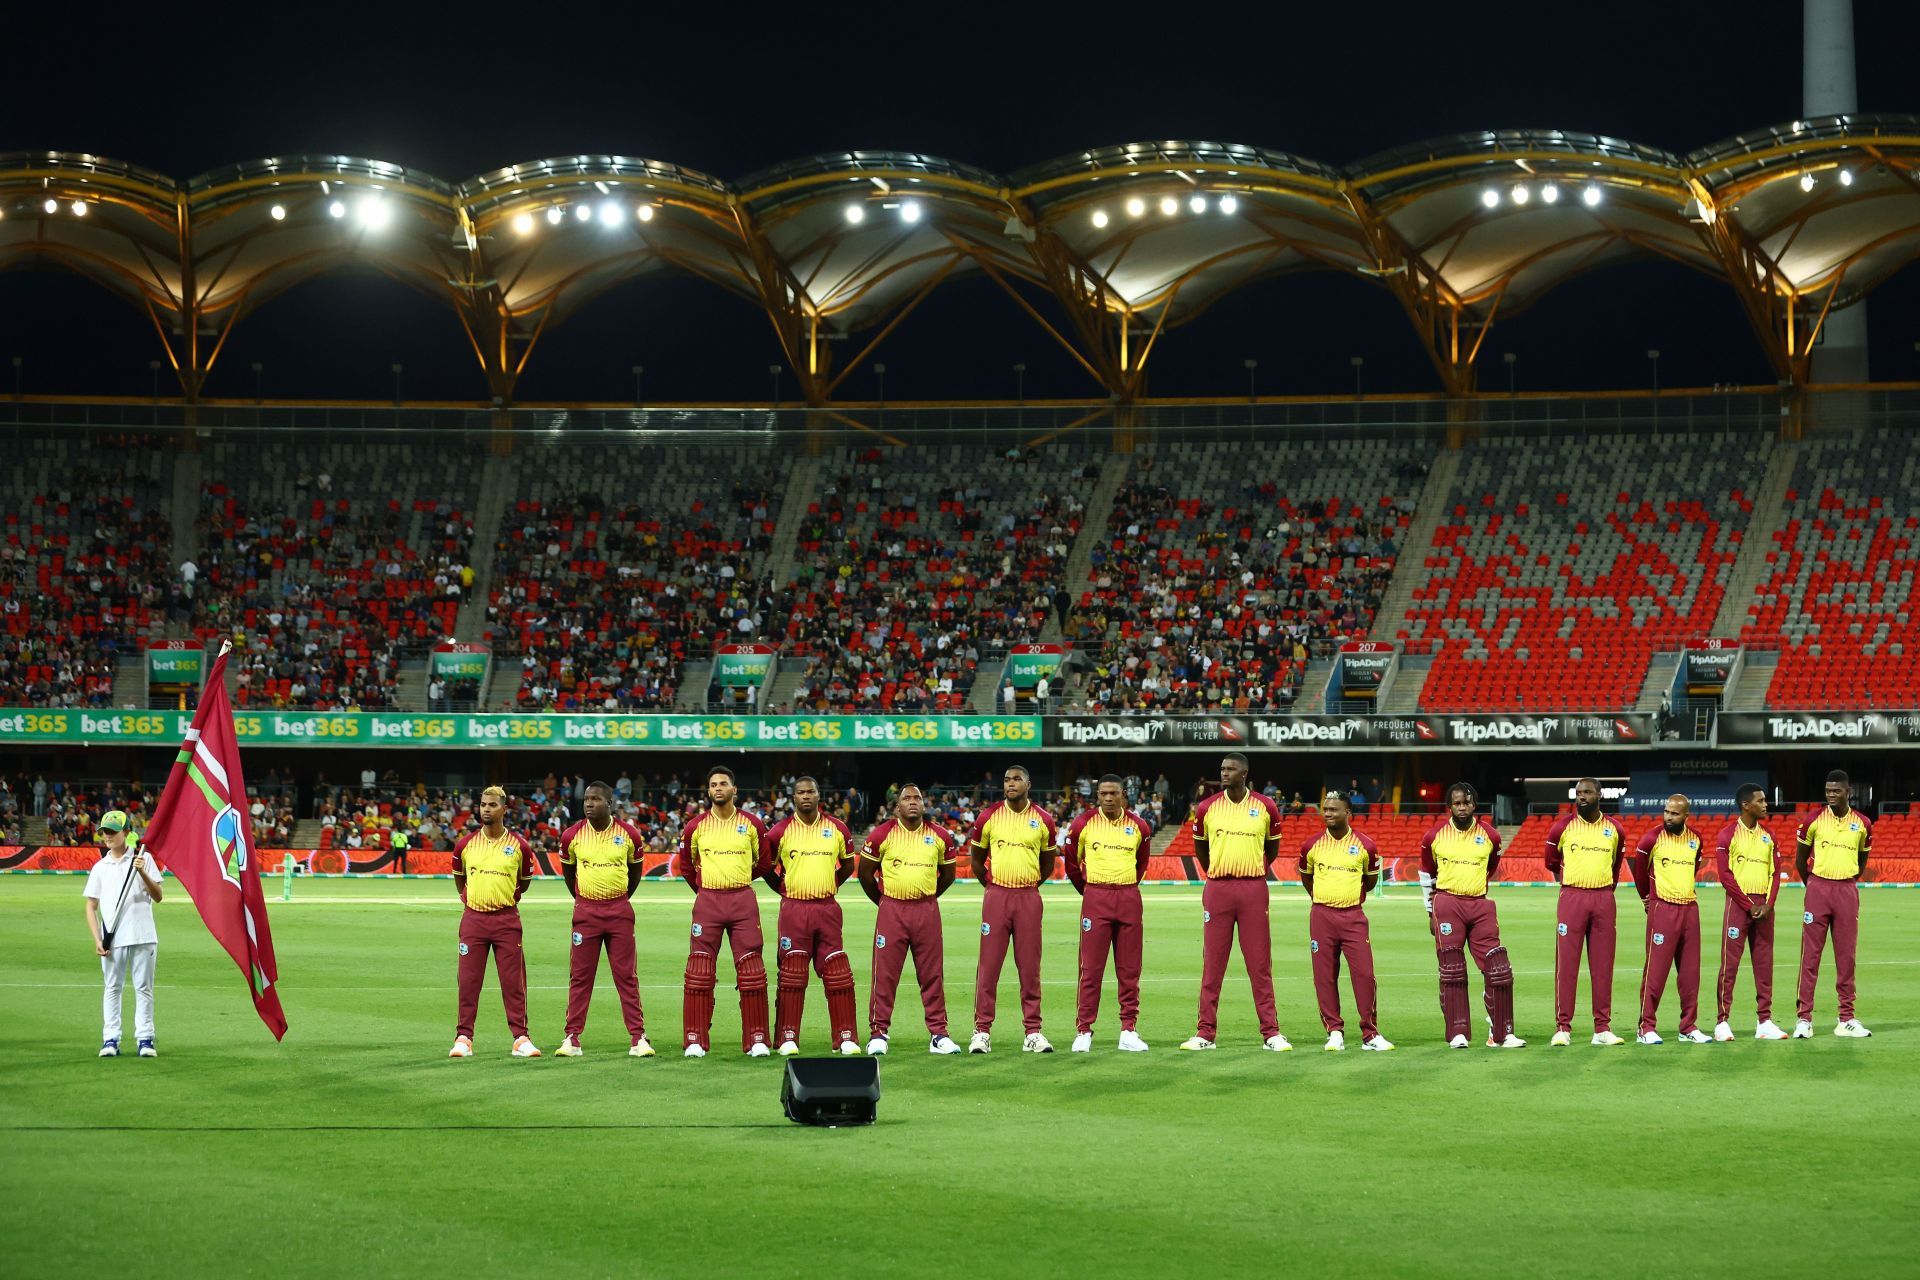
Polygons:
<instances>
[{"instance_id":1,"label":"scalloped stadium roof with bright floodlights above the stands","mask_svg":"<svg viewBox=\"0 0 1920 1280\"><path fill-rule=\"evenodd\" d=\"M1826 313L1920 257L1920 117L1793 121L1688 155L1511 130L1346 167L1140 142L1008 177L835 152L737 182L624 155L465 182L349 155L186 182L96 155L0 155L0 269L63 267L142 307L190 397L250 311L340 269L445 299L501 401L547 326L655 273L764 307L812 403L962 273L998 282L1131 399L1167 328L1263 276L1344 271L1392 290L1446 388L1467 391L1501 317L1647 257L1728 282L1780 378L1805 384ZM837 372L826 340L864 330Z\"/></svg>"}]
</instances>

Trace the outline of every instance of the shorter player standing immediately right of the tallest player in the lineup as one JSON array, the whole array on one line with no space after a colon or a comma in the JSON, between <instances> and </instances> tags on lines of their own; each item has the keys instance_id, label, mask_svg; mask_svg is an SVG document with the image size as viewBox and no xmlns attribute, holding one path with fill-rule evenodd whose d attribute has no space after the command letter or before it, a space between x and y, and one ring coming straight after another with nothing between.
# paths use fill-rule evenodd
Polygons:
<instances>
[{"instance_id":1,"label":"shorter player standing immediately right of the tallest player in the lineup","mask_svg":"<svg viewBox=\"0 0 1920 1280\"><path fill-rule=\"evenodd\" d=\"M1373 940L1367 936L1367 894L1380 883L1380 848L1354 831L1348 798L1329 791L1321 800L1327 829L1300 846L1300 885L1313 904L1308 910L1308 950L1313 954L1313 994L1327 1027L1327 1052L1346 1050L1340 1017L1340 960L1354 975L1354 1009L1359 1015L1359 1048L1386 1052L1394 1042L1380 1034L1379 986L1373 983Z\"/></svg>"}]
</instances>

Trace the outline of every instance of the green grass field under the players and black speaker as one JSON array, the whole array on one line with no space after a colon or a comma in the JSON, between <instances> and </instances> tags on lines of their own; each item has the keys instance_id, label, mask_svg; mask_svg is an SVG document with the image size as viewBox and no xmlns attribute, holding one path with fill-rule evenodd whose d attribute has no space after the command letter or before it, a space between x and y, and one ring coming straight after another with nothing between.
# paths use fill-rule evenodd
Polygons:
<instances>
[{"instance_id":1,"label":"green grass field under the players and black speaker","mask_svg":"<svg viewBox=\"0 0 1920 1280\"><path fill-rule=\"evenodd\" d=\"M104 1061L81 885L0 877L0 1180L15 1276L1603 1276L1786 1274L1822 1259L1847 1274L1912 1274L1920 892L1862 894L1872 1040L1828 1034L1828 971L1812 1042L1596 1050L1582 1036L1549 1050L1553 896L1500 890L1532 1046L1459 1054L1440 1046L1419 896L1400 889L1371 906L1382 1029L1400 1050L1361 1054L1354 1036L1332 1055L1319 1052L1306 906L1290 889L1273 912L1275 979L1298 1050L1258 1050L1233 969L1223 1048L1190 1055L1175 1046L1192 1032L1198 889L1158 889L1140 1017L1154 1052L1114 1052L1110 977L1096 1052L1081 1057L1066 1052L1079 917L1069 889L1048 889L1046 1031L1060 1052L1010 1052L1010 963L995 1054L929 1057L908 981L879 1123L814 1130L780 1115L780 1059L728 1052L739 1027L730 990L722 1052L676 1055L684 887L637 896L641 996L662 1050L651 1061L624 1055L605 973L588 1055L551 1057L568 950L559 885L538 885L524 906L532 1031L549 1055L507 1057L490 975L478 1054L449 1061L459 908L447 881L303 881L290 906L275 902L292 1025L278 1046L184 894L169 892L163 1055ZM856 887L841 896L864 1013L874 912ZM1630 1036L1638 912L1622 898L1632 942L1615 1029ZM1776 967L1788 1027L1797 904L1789 889ZM947 998L964 1042L979 900L962 887L943 906ZM772 935L772 902L762 910ZM1711 1025L1718 892L1701 910ZM131 1046L131 994L127 1004ZM1668 992L1668 1034L1676 1007ZM1745 981L1734 1025L1753 1029ZM818 981L806 1029L808 1048L824 1050Z\"/></svg>"}]
</instances>

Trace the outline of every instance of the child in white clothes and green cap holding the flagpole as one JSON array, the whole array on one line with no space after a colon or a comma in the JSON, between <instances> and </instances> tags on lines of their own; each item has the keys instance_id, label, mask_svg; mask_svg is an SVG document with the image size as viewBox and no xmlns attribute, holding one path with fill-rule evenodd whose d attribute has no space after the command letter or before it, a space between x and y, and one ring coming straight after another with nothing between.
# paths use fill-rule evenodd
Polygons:
<instances>
[{"instance_id":1,"label":"child in white clothes and green cap holding the flagpole","mask_svg":"<svg viewBox=\"0 0 1920 1280\"><path fill-rule=\"evenodd\" d=\"M159 871L146 852L127 844L127 812L108 810L94 827L106 854L86 873L86 936L100 956L106 990L100 1000L100 1055L119 1057L121 990L132 977L132 1034L140 1057L159 1057L154 1048L154 960L159 935L154 904L161 900ZM106 912L102 913L102 902Z\"/></svg>"}]
</instances>

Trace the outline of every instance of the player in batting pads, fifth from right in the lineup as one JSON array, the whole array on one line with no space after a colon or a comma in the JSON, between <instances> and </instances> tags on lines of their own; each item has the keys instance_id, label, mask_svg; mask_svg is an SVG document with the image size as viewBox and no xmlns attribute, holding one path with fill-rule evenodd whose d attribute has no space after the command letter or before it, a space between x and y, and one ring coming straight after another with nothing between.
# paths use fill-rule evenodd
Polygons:
<instances>
[{"instance_id":1,"label":"player in batting pads, fifth from right in the lineup","mask_svg":"<svg viewBox=\"0 0 1920 1280\"><path fill-rule=\"evenodd\" d=\"M1421 892L1427 927L1440 954L1440 1015L1450 1050L1467 1048L1467 952L1480 967L1490 1050L1523 1050L1513 1034L1513 960L1500 944L1500 912L1486 883L1500 869L1500 833L1475 818L1471 783L1446 793L1448 818L1421 841Z\"/></svg>"}]
</instances>

